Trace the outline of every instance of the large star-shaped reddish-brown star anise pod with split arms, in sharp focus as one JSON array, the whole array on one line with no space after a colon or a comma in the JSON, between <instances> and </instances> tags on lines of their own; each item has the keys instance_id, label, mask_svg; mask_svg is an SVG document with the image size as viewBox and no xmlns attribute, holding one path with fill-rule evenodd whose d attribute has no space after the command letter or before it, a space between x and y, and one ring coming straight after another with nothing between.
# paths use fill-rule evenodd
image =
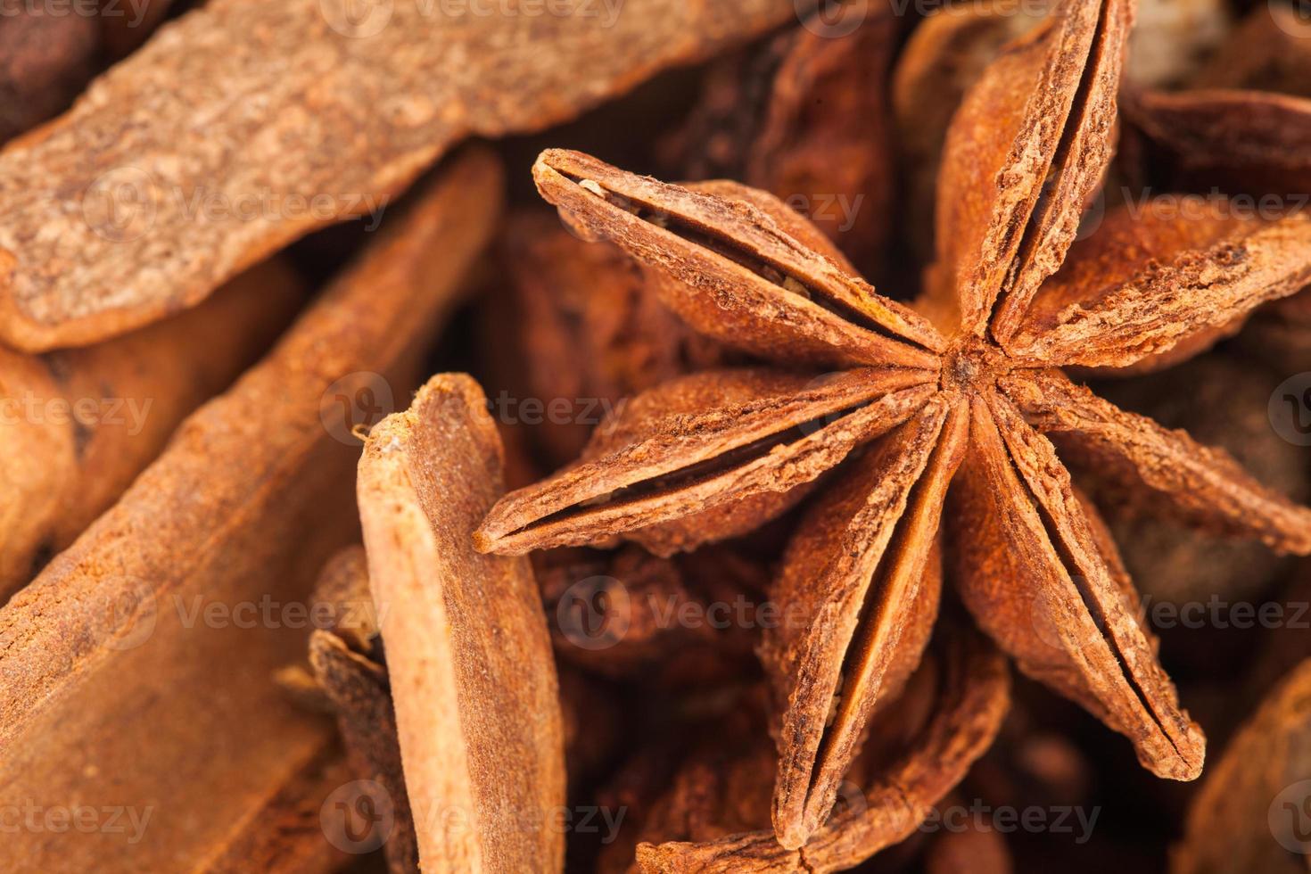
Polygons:
<instances>
[{"instance_id":1,"label":"large star-shaped reddish-brown star anise pod with split arms, in sharp focus","mask_svg":"<svg viewBox=\"0 0 1311 874\"><path fill-rule=\"evenodd\" d=\"M1044 434L1200 527L1311 553L1311 511L1058 370L1165 366L1311 282L1303 215L1150 202L1075 244L1113 152L1131 17L1126 0L1068 0L968 94L939 177L932 322L876 294L762 193L665 185L564 151L534 168L579 233L665 275L659 294L684 320L777 367L636 397L577 464L493 507L480 549L688 549L777 515L851 456L788 549L776 599L791 621L763 651L784 710L784 848L822 827L869 715L919 660L949 484L948 545L975 620L1163 777L1197 777L1202 732L1158 663L1104 524Z\"/></svg>"}]
</instances>

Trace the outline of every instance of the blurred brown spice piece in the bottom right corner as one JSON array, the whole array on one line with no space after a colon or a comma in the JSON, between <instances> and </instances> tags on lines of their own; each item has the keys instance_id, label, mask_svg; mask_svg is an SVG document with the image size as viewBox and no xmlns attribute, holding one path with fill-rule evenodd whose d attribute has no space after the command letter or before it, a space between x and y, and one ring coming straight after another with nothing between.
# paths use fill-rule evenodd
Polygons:
<instances>
[{"instance_id":1,"label":"blurred brown spice piece in the bottom right corner","mask_svg":"<svg viewBox=\"0 0 1311 874\"><path fill-rule=\"evenodd\" d=\"M1243 726L1202 782L1173 874L1307 870L1311 799L1311 662Z\"/></svg>"}]
</instances>

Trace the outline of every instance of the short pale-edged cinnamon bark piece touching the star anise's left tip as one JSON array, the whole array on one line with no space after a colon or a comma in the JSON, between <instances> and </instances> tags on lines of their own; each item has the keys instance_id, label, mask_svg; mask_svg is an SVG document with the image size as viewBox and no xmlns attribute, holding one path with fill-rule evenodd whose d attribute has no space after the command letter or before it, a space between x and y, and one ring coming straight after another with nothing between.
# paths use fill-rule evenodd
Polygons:
<instances>
[{"instance_id":1,"label":"short pale-edged cinnamon bark piece touching the star anise's left tip","mask_svg":"<svg viewBox=\"0 0 1311 874\"><path fill-rule=\"evenodd\" d=\"M565 799L564 734L538 587L527 558L471 542L503 493L501 465L486 398L467 376L434 376L374 428L359 463L425 870L564 869L552 819Z\"/></svg>"}]
</instances>

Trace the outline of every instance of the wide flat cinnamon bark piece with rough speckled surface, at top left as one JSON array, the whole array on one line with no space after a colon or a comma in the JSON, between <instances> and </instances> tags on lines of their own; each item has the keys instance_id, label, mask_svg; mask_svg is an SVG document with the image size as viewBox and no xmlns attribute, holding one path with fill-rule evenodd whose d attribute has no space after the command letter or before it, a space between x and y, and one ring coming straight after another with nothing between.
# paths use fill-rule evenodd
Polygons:
<instances>
[{"instance_id":1,"label":"wide flat cinnamon bark piece with rough speckled surface, at top left","mask_svg":"<svg viewBox=\"0 0 1311 874\"><path fill-rule=\"evenodd\" d=\"M191 307L308 231L378 214L460 138L565 121L791 12L208 3L0 156L0 338L83 345Z\"/></svg>"}]
</instances>

